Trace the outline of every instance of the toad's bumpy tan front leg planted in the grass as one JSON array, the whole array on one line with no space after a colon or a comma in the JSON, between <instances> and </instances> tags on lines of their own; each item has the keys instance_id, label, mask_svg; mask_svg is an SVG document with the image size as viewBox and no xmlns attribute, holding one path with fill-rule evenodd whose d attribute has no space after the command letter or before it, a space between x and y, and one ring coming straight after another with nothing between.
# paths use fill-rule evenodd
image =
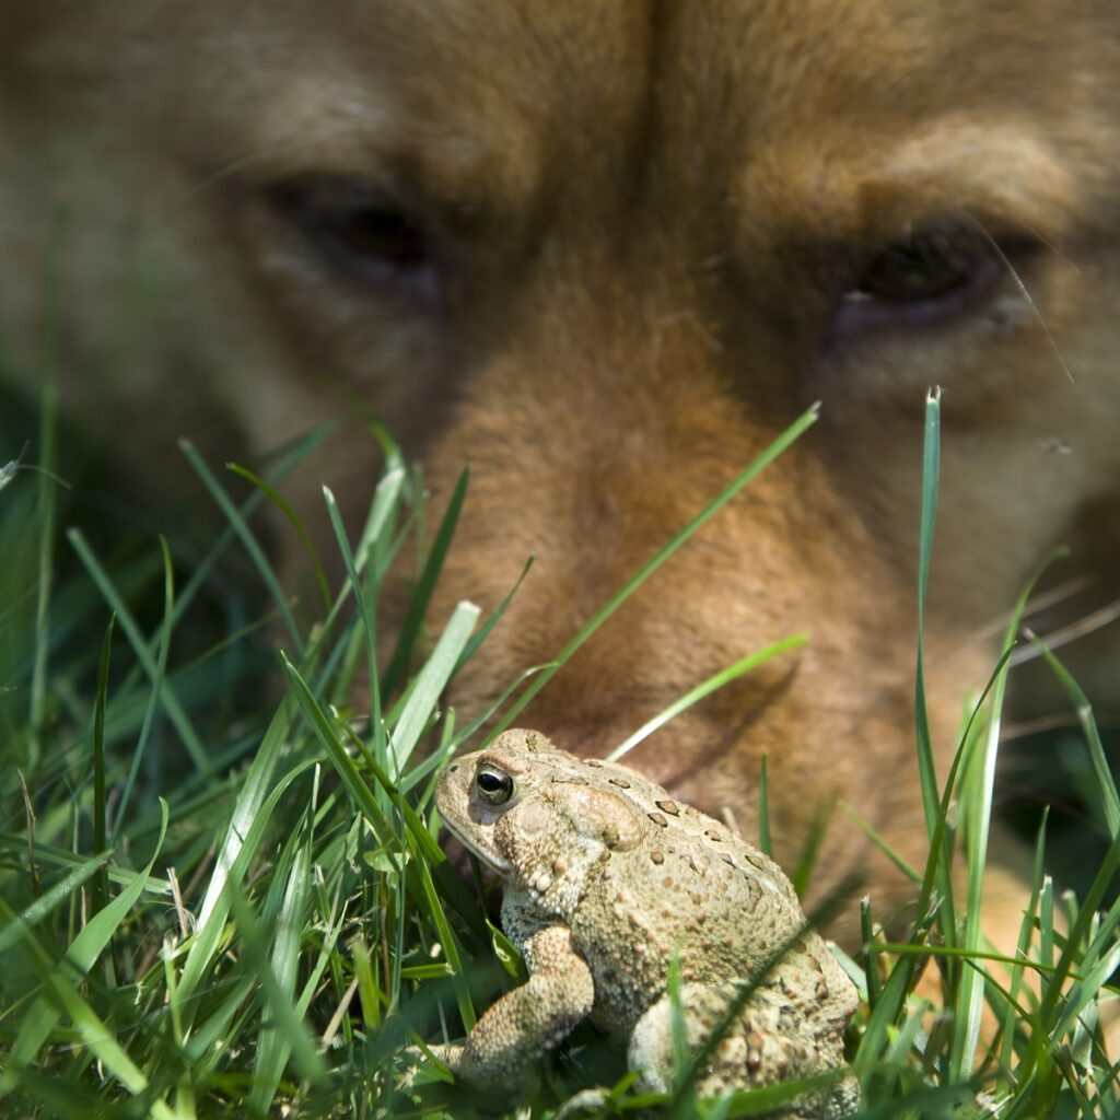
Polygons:
<instances>
[{"instance_id":1,"label":"toad's bumpy tan front leg planted in the grass","mask_svg":"<svg viewBox=\"0 0 1120 1120\"><path fill-rule=\"evenodd\" d=\"M467 1081L482 1085L507 1081L590 1014L595 999L591 970L572 948L566 926L541 930L523 949L529 981L494 1004L465 1045L432 1047L440 1061Z\"/></svg>"}]
</instances>

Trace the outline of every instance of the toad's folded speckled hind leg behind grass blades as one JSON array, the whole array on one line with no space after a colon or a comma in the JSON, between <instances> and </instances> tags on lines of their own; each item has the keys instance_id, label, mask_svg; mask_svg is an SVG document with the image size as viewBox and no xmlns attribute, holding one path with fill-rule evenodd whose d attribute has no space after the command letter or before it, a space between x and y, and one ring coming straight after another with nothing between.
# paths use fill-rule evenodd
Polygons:
<instances>
[{"instance_id":1,"label":"toad's folded speckled hind leg behind grass blades","mask_svg":"<svg viewBox=\"0 0 1120 1120\"><path fill-rule=\"evenodd\" d=\"M690 1057L706 1046L722 1023L739 988L726 984L684 984L680 992L684 1037ZM638 1084L653 1092L672 1092L674 1084L673 1009L663 996L638 1019L627 1053ZM795 1077L825 1073L843 1065L843 1051L834 1030L818 1036L812 1025L795 1014L781 992L760 988L735 1016L697 1073L701 1096L718 1096ZM804 1093L774 1116L802 1120L833 1120L858 1103L855 1079L846 1077Z\"/></svg>"}]
</instances>

